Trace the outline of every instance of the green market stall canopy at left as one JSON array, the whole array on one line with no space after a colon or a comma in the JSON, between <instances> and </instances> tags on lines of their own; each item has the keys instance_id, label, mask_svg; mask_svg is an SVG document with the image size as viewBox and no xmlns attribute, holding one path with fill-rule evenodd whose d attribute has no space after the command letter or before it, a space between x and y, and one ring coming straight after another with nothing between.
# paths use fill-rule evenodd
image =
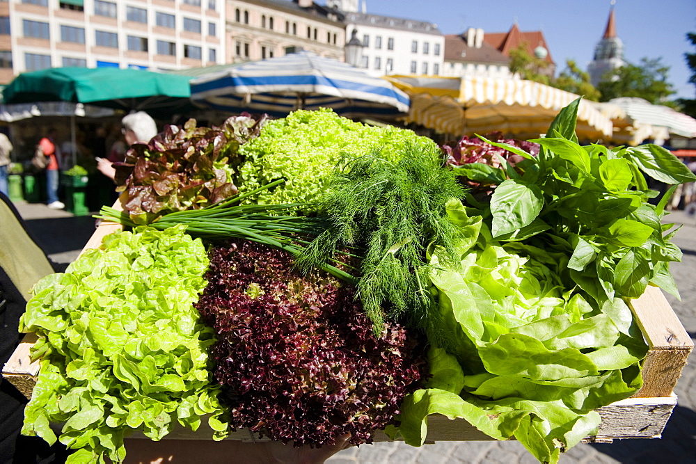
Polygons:
<instances>
[{"instance_id":1,"label":"green market stall canopy at left","mask_svg":"<svg viewBox=\"0 0 696 464\"><path fill-rule=\"evenodd\" d=\"M72 102L125 111L172 110L190 96L186 76L115 67L23 72L3 89L5 104Z\"/></svg>"}]
</instances>

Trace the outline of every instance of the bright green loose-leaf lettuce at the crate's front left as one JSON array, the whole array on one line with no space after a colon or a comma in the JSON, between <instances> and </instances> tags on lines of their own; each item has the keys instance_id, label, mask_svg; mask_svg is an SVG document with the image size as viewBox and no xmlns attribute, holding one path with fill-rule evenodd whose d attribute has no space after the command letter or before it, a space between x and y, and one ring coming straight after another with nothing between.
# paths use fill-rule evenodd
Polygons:
<instances>
[{"instance_id":1,"label":"bright green loose-leaf lettuce at the crate's front left","mask_svg":"<svg viewBox=\"0 0 696 464\"><path fill-rule=\"evenodd\" d=\"M38 335L41 370L23 434L53 443L49 422L64 422L61 442L78 449L70 462L120 462L132 431L159 440L176 422L197 429L203 415L224 434L214 333L192 305L208 260L183 229L110 234L35 285L20 330Z\"/></svg>"}]
</instances>

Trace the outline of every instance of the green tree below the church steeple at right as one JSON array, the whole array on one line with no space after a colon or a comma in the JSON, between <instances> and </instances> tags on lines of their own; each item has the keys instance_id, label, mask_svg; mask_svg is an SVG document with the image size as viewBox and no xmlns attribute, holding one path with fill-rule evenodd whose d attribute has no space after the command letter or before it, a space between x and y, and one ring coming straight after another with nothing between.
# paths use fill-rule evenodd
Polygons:
<instances>
[{"instance_id":1,"label":"green tree below the church steeple at right","mask_svg":"<svg viewBox=\"0 0 696 464\"><path fill-rule=\"evenodd\" d=\"M640 97L652 104L668 104L667 97L674 88L667 82L669 66L661 63L662 58L642 58L640 65L628 63L606 72L597 90L601 101L608 102L617 97Z\"/></svg>"}]
</instances>

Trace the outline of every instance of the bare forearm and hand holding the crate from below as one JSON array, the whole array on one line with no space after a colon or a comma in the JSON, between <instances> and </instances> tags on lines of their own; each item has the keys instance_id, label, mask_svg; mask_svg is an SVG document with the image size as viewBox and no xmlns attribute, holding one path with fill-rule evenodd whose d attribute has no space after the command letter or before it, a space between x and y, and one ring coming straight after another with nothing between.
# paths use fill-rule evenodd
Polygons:
<instances>
[{"instance_id":1,"label":"bare forearm and hand holding the crate from below","mask_svg":"<svg viewBox=\"0 0 696 464\"><path fill-rule=\"evenodd\" d=\"M129 438L125 440L125 463L139 464L314 464L349 447L351 435L336 439L334 445L310 448L308 445L296 448L292 443L282 442L241 442L237 440L150 440Z\"/></svg>"}]
</instances>

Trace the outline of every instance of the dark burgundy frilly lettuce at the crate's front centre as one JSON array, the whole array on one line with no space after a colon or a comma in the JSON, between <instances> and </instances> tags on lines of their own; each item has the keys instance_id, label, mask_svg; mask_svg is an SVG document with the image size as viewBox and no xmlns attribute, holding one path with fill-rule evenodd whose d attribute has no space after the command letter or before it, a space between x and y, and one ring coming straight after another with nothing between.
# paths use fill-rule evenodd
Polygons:
<instances>
[{"instance_id":1,"label":"dark burgundy frilly lettuce at the crate's front centre","mask_svg":"<svg viewBox=\"0 0 696 464\"><path fill-rule=\"evenodd\" d=\"M196 307L218 335L230 424L295 445L372 442L417 387L416 339L394 323L375 337L354 287L292 268L289 253L249 241L210 252Z\"/></svg>"}]
</instances>

